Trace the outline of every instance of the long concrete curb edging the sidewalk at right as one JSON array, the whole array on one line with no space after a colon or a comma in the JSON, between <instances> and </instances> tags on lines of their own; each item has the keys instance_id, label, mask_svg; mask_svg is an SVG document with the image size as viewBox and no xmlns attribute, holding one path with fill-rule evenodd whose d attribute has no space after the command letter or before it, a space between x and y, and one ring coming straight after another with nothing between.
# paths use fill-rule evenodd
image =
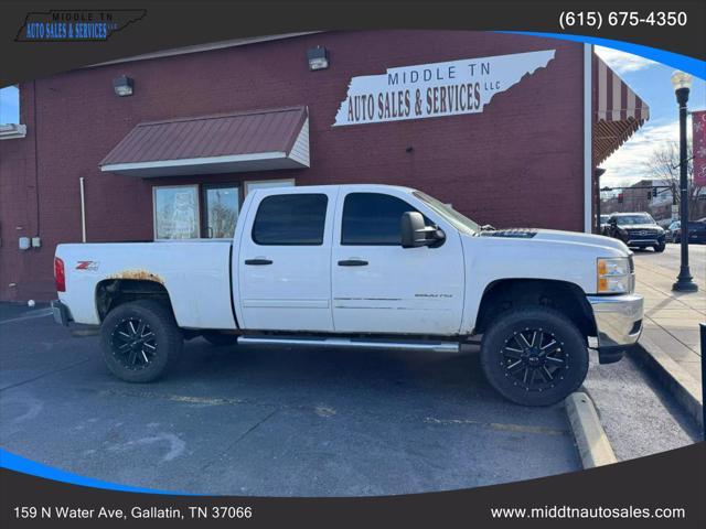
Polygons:
<instances>
[{"instance_id":1,"label":"long concrete curb edging the sidewalk at right","mask_svg":"<svg viewBox=\"0 0 706 529\"><path fill-rule=\"evenodd\" d=\"M650 370L686 412L704 428L704 401L698 382L659 347L646 348L638 343L631 355Z\"/></svg>"}]
</instances>

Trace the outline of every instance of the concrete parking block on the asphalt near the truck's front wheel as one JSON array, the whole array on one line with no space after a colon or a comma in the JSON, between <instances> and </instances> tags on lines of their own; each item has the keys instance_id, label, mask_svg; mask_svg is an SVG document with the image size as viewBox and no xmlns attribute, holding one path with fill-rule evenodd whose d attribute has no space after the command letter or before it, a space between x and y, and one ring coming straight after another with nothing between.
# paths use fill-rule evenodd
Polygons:
<instances>
[{"instance_id":1,"label":"concrete parking block on the asphalt near the truck's front wheel","mask_svg":"<svg viewBox=\"0 0 706 529\"><path fill-rule=\"evenodd\" d=\"M564 401L584 468L618 463L608 435L600 423L593 401L588 395L575 392Z\"/></svg>"}]
</instances>

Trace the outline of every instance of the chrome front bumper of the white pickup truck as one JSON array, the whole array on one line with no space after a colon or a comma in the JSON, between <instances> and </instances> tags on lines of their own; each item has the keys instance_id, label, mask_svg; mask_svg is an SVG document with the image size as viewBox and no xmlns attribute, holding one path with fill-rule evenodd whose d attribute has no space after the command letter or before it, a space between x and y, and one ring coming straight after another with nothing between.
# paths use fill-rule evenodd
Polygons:
<instances>
[{"instance_id":1,"label":"chrome front bumper of the white pickup truck","mask_svg":"<svg viewBox=\"0 0 706 529\"><path fill-rule=\"evenodd\" d=\"M599 360L618 361L642 333L644 300L638 294L589 295L588 302L598 332Z\"/></svg>"}]
</instances>

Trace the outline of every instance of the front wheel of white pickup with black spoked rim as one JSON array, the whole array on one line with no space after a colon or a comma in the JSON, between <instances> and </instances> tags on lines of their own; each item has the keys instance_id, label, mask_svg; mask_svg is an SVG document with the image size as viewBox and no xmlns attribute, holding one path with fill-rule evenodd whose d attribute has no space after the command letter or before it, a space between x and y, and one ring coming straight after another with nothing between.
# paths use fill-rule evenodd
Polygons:
<instances>
[{"instance_id":1,"label":"front wheel of white pickup with black spoked rim","mask_svg":"<svg viewBox=\"0 0 706 529\"><path fill-rule=\"evenodd\" d=\"M481 365L503 397L549 406L576 391L588 373L586 339L560 312L544 306L502 314L485 332Z\"/></svg>"}]
</instances>

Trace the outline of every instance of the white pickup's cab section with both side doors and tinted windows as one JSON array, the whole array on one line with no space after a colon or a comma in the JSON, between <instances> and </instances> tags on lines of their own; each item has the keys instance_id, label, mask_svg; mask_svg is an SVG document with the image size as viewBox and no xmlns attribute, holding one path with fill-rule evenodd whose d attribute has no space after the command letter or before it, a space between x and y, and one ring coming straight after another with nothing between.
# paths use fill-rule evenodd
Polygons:
<instances>
[{"instance_id":1,"label":"white pickup's cab section with both side doors and tinted windows","mask_svg":"<svg viewBox=\"0 0 706 529\"><path fill-rule=\"evenodd\" d=\"M431 220L424 204L411 205L413 194L381 191L300 187L253 197L256 207L235 237L238 323L269 331L460 334L461 238L443 218ZM405 247L403 215L419 208L425 227L442 238Z\"/></svg>"}]
</instances>

